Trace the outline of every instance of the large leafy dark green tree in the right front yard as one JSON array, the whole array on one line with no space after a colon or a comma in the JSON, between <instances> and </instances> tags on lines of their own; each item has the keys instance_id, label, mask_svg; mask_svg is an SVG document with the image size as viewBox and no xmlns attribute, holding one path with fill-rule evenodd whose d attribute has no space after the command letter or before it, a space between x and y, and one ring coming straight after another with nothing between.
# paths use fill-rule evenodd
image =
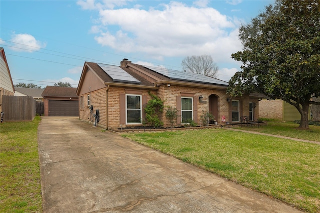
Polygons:
<instances>
[{"instance_id":1,"label":"large leafy dark green tree in the right front yard","mask_svg":"<svg viewBox=\"0 0 320 213\"><path fill-rule=\"evenodd\" d=\"M308 128L311 101L320 97L320 1L277 0L239 29L243 50L232 54L241 71L227 93L260 92L293 105Z\"/></svg>"}]
</instances>

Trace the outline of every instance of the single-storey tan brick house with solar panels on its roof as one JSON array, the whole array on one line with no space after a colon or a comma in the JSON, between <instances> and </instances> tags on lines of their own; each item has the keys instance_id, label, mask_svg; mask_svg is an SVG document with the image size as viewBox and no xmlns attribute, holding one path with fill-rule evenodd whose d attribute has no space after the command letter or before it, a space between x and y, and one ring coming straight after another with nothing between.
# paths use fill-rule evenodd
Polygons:
<instances>
[{"instance_id":1,"label":"single-storey tan brick house with solar panels on its roof","mask_svg":"<svg viewBox=\"0 0 320 213\"><path fill-rule=\"evenodd\" d=\"M100 127L141 126L149 91L161 98L164 106L177 109L175 126L188 119L200 123L203 112L212 113L218 124L222 124L222 116L230 123L239 122L242 115L257 119L258 97L243 95L231 100L226 95L227 86L216 78L133 64L127 59L120 66L85 62L76 90L79 118L88 121L93 107L93 113L99 110ZM160 119L169 127L165 110Z\"/></svg>"}]
</instances>

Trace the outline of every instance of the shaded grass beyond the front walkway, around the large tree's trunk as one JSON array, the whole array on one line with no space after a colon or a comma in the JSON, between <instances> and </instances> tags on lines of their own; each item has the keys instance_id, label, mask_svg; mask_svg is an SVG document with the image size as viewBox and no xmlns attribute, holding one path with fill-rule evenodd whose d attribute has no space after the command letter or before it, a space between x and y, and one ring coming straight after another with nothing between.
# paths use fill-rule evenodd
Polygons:
<instances>
[{"instance_id":1,"label":"shaded grass beyond the front walkway, around the large tree's trunk","mask_svg":"<svg viewBox=\"0 0 320 213\"><path fill-rule=\"evenodd\" d=\"M243 126L239 129L320 142L320 126L309 125L309 130L296 129L298 126L294 122L268 122L259 128Z\"/></svg>"}]
</instances>

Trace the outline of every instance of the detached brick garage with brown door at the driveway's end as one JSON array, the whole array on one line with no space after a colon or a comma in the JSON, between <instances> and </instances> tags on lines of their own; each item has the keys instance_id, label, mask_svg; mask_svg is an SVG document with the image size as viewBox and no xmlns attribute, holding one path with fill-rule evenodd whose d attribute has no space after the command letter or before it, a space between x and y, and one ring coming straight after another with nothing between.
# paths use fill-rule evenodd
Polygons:
<instances>
[{"instance_id":1,"label":"detached brick garage with brown door at the driveway's end","mask_svg":"<svg viewBox=\"0 0 320 213\"><path fill-rule=\"evenodd\" d=\"M79 116L76 88L46 86L42 92L44 116Z\"/></svg>"}]
</instances>

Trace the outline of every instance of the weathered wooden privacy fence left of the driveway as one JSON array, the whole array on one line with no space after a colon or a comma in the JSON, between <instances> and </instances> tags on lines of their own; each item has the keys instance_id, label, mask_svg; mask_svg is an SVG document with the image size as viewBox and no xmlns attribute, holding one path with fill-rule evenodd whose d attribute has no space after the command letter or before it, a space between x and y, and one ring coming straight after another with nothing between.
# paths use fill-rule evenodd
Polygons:
<instances>
[{"instance_id":1,"label":"weathered wooden privacy fence left of the driveway","mask_svg":"<svg viewBox=\"0 0 320 213\"><path fill-rule=\"evenodd\" d=\"M32 121L35 100L30 96L2 96L3 121Z\"/></svg>"}]
</instances>

